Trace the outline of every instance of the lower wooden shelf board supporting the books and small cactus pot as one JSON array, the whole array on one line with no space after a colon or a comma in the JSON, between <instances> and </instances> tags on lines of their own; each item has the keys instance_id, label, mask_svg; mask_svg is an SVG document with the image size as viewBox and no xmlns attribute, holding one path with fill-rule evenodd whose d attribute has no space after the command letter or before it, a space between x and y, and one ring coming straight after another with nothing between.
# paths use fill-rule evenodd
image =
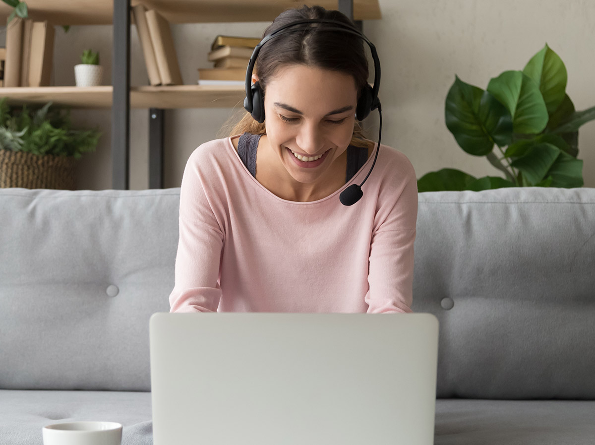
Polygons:
<instances>
[{"instance_id":1,"label":"lower wooden shelf board supporting the books and small cactus pot","mask_svg":"<svg viewBox=\"0 0 595 445\"><path fill-rule=\"evenodd\" d=\"M0 88L11 105L46 104L72 108L110 108L112 87L11 87ZM237 85L140 86L130 89L131 108L233 108L242 106L245 90Z\"/></svg>"}]
</instances>

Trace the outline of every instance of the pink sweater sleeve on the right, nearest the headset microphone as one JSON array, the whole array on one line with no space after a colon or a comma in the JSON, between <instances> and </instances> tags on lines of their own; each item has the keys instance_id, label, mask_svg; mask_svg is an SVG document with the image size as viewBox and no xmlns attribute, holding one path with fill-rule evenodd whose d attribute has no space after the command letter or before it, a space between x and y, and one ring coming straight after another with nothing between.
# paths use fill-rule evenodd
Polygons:
<instances>
[{"instance_id":1,"label":"pink sweater sleeve on the right, nearest the headset microphone","mask_svg":"<svg viewBox=\"0 0 595 445\"><path fill-rule=\"evenodd\" d=\"M411 162L403 161L393 175L405 180L387 184L374 225L369 253L368 314L413 312L414 242L417 224L417 178Z\"/></svg>"}]
</instances>

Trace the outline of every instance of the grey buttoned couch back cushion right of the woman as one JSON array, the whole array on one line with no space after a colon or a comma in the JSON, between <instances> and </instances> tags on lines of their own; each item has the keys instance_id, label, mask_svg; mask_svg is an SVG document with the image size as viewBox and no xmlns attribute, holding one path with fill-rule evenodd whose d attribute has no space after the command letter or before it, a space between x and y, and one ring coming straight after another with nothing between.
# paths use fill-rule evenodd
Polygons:
<instances>
[{"instance_id":1,"label":"grey buttoned couch back cushion right of the woman","mask_svg":"<svg viewBox=\"0 0 595 445\"><path fill-rule=\"evenodd\" d=\"M438 397L595 399L595 189L418 196L415 312Z\"/></svg>"}]
</instances>

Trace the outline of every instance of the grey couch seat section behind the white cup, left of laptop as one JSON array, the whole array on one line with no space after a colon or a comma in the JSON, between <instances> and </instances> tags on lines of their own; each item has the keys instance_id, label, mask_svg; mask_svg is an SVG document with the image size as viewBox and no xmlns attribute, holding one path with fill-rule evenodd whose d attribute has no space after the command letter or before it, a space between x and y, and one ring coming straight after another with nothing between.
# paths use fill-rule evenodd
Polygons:
<instances>
[{"instance_id":1,"label":"grey couch seat section behind the white cup, left of laptop","mask_svg":"<svg viewBox=\"0 0 595 445\"><path fill-rule=\"evenodd\" d=\"M0 390L0 443L42 445L42 428L73 421L123 425L122 445L152 445L151 393Z\"/></svg>"}]
</instances>

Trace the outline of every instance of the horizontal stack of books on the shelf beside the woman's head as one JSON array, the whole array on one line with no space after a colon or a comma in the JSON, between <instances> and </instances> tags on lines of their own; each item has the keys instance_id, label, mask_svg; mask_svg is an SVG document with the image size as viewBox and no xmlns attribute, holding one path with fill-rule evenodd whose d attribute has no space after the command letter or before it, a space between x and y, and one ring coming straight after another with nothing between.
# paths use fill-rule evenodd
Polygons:
<instances>
[{"instance_id":1,"label":"horizontal stack of books on the shelf beside the woman's head","mask_svg":"<svg viewBox=\"0 0 595 445\"><path fill-rule=\"evenodd\" d=\"M255 37L215 37L208 54L214 68L199 68L198 84L243 85L250 56L259 42Z\"/></svg>"}]
</instances>

